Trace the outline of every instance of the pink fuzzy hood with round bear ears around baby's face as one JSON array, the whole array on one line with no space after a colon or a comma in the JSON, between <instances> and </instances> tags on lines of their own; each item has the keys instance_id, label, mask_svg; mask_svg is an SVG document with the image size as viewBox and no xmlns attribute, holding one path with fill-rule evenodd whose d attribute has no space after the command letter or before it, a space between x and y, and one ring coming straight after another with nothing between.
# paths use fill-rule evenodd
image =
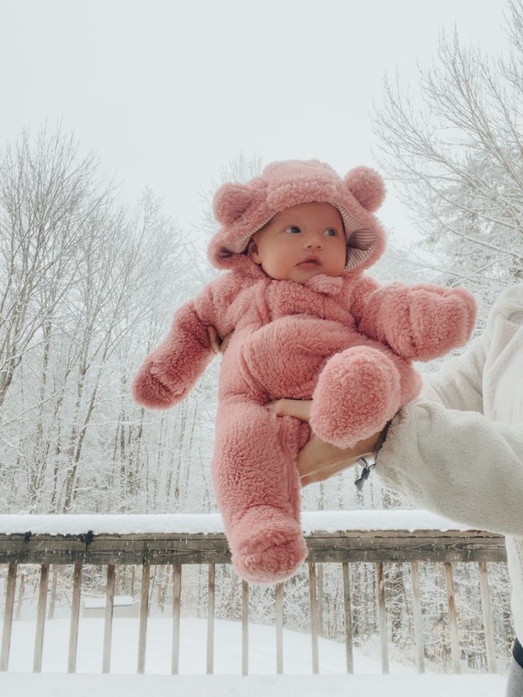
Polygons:
<instances>
[{"instance_id":1,"label":"pink fuzzy hood with round bear ears around baby's face","mask_svg":"<svg viewBox=\"0 0 523 697\"><path fill-rule=\"evenodd\" d=\"M346 271L372 266L385 248L385 232L373 215L384 200L381 176L367 167L341 178L318 160L273 162L246 184L227 183L217 190L215 217L222 225L212 237L208 255L218 269L254 265L247 256L252 234L276 213L299 203L330 203L338 208L347 239Z\"/></svg>"}]
</instances>

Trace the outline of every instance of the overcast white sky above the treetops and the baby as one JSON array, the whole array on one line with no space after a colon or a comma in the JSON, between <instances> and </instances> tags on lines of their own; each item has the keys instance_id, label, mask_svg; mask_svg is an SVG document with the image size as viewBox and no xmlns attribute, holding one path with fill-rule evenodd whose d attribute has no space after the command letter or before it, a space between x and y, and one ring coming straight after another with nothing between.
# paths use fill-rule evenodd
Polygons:
<instances>
[{"instance_id":1,"label":"overcast white sky above the treetops and the baby","mask_svg":"<svg viewBox=\"0 0 523 697\"><path fill-rule=\"evenodd\" d=\"M502 0L0 0L0 139L48 119L116 173L148 185L190 229L198 189L238 153L375 166L370 128L385 70L416 82L438 33L490 53ZM389 197L379 213L416 239Z\"/></svg>"}]
</instances>

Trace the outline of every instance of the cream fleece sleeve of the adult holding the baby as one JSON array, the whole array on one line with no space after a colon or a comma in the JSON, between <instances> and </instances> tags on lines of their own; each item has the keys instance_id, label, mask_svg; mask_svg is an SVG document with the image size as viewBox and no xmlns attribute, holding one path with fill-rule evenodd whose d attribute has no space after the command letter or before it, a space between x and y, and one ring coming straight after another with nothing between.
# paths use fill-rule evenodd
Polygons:
<instances>
[{"instance_id":1,"label":"cream fleece sleeve of the adult holding the baby","mask_svg":"<svg viewBox=\"0 0 523 697\"><path fill-rule=\"evenodd\" d=\"M489 340L480 335L448 361L392 420L379 451L382 483L457 522L523 535L523 423L483 416L482 371Z\"/></svg>"}]
</instances>

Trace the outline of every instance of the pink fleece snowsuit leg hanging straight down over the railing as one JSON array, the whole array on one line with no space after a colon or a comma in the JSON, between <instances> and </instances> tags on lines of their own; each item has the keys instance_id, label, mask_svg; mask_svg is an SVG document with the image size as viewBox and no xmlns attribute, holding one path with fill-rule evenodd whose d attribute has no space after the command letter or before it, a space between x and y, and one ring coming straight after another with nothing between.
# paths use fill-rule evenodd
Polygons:
<instances>
[{"instance_id":1,"label":"pink fleece snowsuit leg hanging straight down over the railing","mask_svg":"<svg viewBox=\"0 0 523 697\"><path fill-rule=\"evenodd\" d=\"M296 455L308 427L240 397L220 403L216 426L212 479L234 570L254 583L278 583L307 554Z\"/></svg>"}]
</instances>

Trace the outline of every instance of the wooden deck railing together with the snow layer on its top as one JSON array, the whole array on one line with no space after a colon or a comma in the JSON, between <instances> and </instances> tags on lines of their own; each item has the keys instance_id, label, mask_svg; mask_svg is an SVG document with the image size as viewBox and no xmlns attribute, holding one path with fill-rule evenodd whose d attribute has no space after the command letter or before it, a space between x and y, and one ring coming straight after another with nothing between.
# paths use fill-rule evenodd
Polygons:
<instances>
[{"instance_id":1,"label":"wooden deck railing together with the snow layer on its top","mask_svg":"<svg viewBox=\"0 0 523 697\"><path fill-rule=\"evenodd\" d=\"M424 671L424 642L419 593L420 561L443 563L446 579L449 632L453 669L460 672L458 620L455 609L452 564L478 563L483 625L489 671L495 672L492 612L487 582L487 562L506 561L502 536L469 530L422 511L357 511L303 514L308 546L308 581L311 616L313 673L319 671L318 604L316 565L340 563L343 573L345 656L347 673L353 672L351 563L374 563L377 585L382 672L389 671L384 563L409 562L412 582L414 634L418 670ZM230 563L230 551L217 514L202 515L63 515L0 516L0 564L7 564L4 620L0 647L0 670L9 668L11 628L19 564L40 566L33 671L42 667L45 612L50 565L74 565L68 672L75 672L80 618L82 569L85 564L107 566L104 604L102 672L110 671L115 572L124 565L141 566L139 640L136 671L144 673L146 631L149 617L151 565L173 568L173 642L171 673L178 674L180 653L180 599L182 568L207 564L207 657L208 674L213 672L215 623L215 565ZM283 673L284 584L274 590L276 609L276 673ZM248 673L249 586L242 582L242 674Z\"/></svg>"}]
</instances>

